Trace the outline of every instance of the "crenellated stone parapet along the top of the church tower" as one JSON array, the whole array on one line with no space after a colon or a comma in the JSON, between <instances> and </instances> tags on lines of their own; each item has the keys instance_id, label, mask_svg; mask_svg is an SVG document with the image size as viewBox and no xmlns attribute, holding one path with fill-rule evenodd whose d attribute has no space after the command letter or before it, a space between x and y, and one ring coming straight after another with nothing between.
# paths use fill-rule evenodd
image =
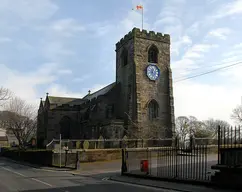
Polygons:
<instances>
[{"instance_id":1,"label":"crenellated stone parapet along the top of the church tower","mask_svg":"<svg viewBox=\"0 0 242 192\"><path fill-rule=\"evenodd\" d=\"M127 41L132 38L144 38L153 41L160 41L170 44L170 35L156 33L154 31L140 30L139 28L133 28L127 35L125 35L118 43L116 43L116 50L122 47Z\"/></svg>"}]
</instances>

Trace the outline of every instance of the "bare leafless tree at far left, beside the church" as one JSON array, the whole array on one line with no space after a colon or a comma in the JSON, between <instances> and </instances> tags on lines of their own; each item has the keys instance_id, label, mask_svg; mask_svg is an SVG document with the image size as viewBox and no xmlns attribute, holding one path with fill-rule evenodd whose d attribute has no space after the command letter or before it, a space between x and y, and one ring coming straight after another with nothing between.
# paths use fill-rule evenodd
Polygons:
<instances>
[{"instance_id":1,"label":"bare leafless tree at far left, beside the church","mask_svg":"<svg viewBox=\"0 0 242 192\"><path fill-rule=\"evenodd\" d=\"M4 114L1 116L3 129L14 134L19 142L20 148L35 136L37 129L37 113L32 105L24 100L14 97L4 107Z\"/></svg>"}]
</instances>

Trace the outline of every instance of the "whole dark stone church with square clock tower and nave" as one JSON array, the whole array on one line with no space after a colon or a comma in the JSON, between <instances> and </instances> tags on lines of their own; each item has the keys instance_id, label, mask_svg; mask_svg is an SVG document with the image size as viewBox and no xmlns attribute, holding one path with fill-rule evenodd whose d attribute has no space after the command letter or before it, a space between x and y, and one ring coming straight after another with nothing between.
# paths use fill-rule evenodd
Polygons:
<instances>
[{"instance_id":1,"label":"whole dark stone church with square clock tower and nave","mask_svg":"<svg viewBox=\"0 0 242 192\"><path fill-rule=\"evenodd\" d=\"M174 132L170 35L133 28L116 43L116 81L83 98L41 99L37 143L161 139Z\"/></svg>"}]
</instances>

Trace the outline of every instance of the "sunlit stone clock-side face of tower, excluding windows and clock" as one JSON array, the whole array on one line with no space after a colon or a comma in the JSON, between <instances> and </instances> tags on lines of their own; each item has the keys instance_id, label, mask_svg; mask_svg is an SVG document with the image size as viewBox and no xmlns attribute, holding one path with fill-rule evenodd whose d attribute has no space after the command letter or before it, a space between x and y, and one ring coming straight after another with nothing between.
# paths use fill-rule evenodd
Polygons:
<instances>
[{"instance_id":1,"label":"sunlit stone clock-side face of tower, excluding windows and clock","mask_svg":"<svg viewBox=\"0 0 242 192\"><path fill-rule=\"evenodd\" d=\"M149 65L148 49L151 45L155 45L159 50L157 66L160 69L160 77L157 81L150 81L145 73L145 69ZM170 45L137 38L135 40L135 55L138 123L143 128L150 127L151 122L148 119L147 108L149 102L154 99L159 104L159 117L152 122L153 129L172 129L174 114L171 113L173 93L172 84L170 83Z\"/></svg>"}]
</instances>

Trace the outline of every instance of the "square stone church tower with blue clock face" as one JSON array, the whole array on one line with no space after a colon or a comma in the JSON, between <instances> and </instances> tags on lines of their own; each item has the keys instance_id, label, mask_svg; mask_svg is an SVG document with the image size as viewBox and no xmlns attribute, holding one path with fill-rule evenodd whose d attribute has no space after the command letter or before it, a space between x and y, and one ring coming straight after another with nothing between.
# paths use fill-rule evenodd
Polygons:
<instances>
[{"instance_id":1,"label":"square stone church tower with blue clock face","mask_svg":"<svg viewBox=\"0 0 242 192\"><path fill-rule=\"evenodd\" d=\"M170 36L134 28L116 44L118 117L130 137L172 137L174 105Z\"/></svg>"}]
</instances>

